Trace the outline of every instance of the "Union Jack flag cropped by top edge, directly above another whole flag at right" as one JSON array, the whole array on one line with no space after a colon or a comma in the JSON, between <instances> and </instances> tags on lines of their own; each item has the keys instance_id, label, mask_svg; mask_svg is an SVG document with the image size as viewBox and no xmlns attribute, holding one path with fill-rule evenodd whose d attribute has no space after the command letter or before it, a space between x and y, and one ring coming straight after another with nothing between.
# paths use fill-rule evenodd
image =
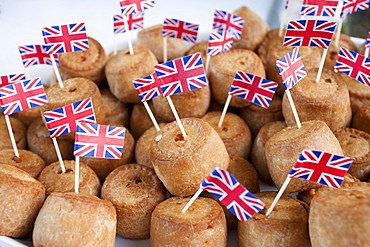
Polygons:
<instances>
[{"instance_id":1,"label":"Union Jack flag cropped by top edge, directly above another whole flag at right","mask_svg":"<svg viewBox=\"0 0 370 247\"><path fill-rule=\"evenodd\" d=\"M334 17L338 2L336 0L303 0L301 15Z\"/></svg>"}]
</instances>

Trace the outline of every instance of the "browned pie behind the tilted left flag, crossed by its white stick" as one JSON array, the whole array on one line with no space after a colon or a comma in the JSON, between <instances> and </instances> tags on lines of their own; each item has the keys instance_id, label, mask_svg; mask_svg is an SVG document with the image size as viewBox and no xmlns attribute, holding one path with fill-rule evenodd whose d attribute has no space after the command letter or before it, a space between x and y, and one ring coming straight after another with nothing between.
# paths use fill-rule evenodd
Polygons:
<instances>
[{"instance_id":1,"label":"browned pie behind the tilted left flag, crossed by its white stick","mask_svg":"<svg viewBox=\"0 0 370 247\"><path fill-rule=\"evenodd\" d=\"M50 165L58 160L53 141L41 117L33 121L28 127L27 142L29 150L38 154L45 161L46 165ZM74 159L74 140L57 137L57 142L63 159Z\"/></svg>"}]
</instances>

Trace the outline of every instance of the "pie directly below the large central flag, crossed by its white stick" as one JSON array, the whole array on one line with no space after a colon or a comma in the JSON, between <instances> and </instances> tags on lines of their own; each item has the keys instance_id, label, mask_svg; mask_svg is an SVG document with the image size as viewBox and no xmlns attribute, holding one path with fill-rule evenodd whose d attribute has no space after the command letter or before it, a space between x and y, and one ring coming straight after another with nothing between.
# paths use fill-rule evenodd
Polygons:
<instances>
[{"instance_id":1,"label":"pie directly below the large central flag, crossed by its white stick","mask_svg":"<svg viewBox=\"0 0 370 247\"><path fill-rule=\"evenodd\" d=\"M208 110L211 101L211 89L209 87L202 87L174 94L171 95L171 100L180 118L201 118ZM175 116L166 97L162 95L155 97L153 99L153 108L159 121L175 121Z\"/></svg>"}]
</instances>

